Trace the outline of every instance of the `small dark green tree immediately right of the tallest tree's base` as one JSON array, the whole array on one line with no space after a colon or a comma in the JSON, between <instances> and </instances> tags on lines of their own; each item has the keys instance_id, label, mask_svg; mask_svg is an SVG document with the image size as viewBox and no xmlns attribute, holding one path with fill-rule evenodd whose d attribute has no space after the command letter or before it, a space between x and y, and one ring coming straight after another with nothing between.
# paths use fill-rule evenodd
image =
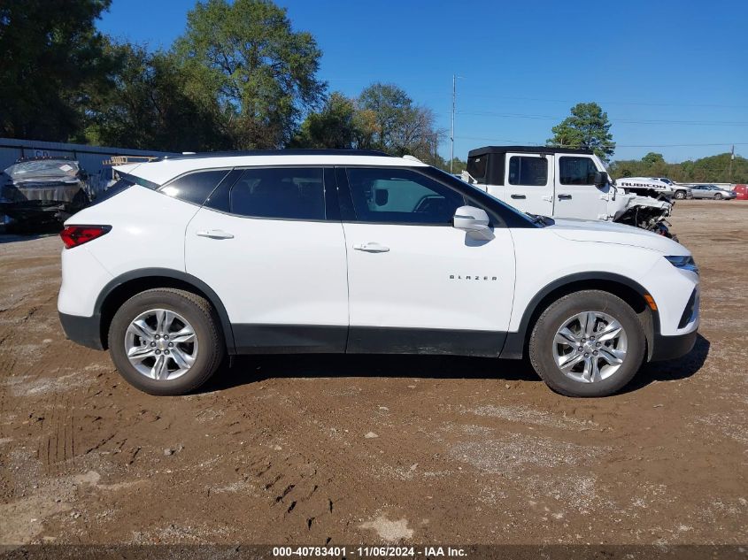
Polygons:
<instances>
[{"instance_id":1,"label":"small dark green tree immediately right of the tallest tree's base","mask_svg":"<svg viewBox=\"0 0 748 560\"><path fill-rule=\"evenodd\" d=\"M358 137L356 107L335 91L320 112L311 112L290 143L298 148L351 149Z\"/></svg>"}]
</instances>

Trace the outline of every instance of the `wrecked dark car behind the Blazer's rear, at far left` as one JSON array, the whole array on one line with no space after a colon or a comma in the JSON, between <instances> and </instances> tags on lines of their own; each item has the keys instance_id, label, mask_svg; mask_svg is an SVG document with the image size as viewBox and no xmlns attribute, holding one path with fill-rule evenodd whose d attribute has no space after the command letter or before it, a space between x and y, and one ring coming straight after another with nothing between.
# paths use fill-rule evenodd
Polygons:
<instances>
[{"instance_id":1,"label":"wrecked dark car behind the Blazer's rear, at far left","mask_svg":"<svg viewBox=\"0 0 748 560\"><path fill-rule=\"evenodd\" d=\"M15 227L62 223L89 203L87 179L71 159L19 159L0 177L0 215Z\"/></svg>"}]
</instances>

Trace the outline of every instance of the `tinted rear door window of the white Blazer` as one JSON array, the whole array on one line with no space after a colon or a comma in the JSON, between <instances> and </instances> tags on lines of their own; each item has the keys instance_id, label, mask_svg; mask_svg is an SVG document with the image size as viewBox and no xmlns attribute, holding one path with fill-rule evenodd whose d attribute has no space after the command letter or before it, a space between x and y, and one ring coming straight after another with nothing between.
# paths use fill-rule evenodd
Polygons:
<instances>
[{"instance_id":1,"label":"tinted rear door window of the white Blazer","mask_svg":"<svg viewBox=\"0 0 748 560\"><path fill-rule=\"evenodd\" d=\"M248 169L231 188L229 203L242 216L325 219L322 169Z\"/></svg>"}]
</instances>

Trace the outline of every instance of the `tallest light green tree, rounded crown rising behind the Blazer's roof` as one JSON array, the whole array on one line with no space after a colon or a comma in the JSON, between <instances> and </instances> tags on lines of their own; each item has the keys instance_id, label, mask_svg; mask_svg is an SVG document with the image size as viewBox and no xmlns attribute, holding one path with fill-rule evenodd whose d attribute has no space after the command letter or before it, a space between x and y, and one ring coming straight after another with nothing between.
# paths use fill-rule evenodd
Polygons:
<instances>
[{"instance_id":1,"label":"tallest light green tree, rounded crown rising behind the Blazer's roof","mask_svg":"<svg viewBox=\"0 0 748 560\"><path fill-rule=\"evenodd\" d=\"M217 104L221 134L235 149L278 148L305 111L321 103L321 51L291 28L286 10L269 0L207 0L189 12L174 44L187 75L186 93Z\"/></svg>"}]
</instances>

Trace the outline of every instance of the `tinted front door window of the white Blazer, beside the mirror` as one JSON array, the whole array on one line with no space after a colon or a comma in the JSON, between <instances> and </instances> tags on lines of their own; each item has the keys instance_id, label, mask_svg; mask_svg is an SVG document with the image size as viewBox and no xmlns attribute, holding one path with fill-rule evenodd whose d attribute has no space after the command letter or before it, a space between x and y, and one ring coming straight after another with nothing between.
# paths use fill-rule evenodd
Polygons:
<instances>
[{"instance_id":1,"label":"tinted front door window of the white Blazer, beside the mirror","mask_svg":"<svg viewBox=\"0 0 748 560\"><path fill-rule=\"evenodd\" d=\"M364 222L450 225L465 205L458 192L409 169L348 170L353 208Z\"/></svg>"}]
</instances>

